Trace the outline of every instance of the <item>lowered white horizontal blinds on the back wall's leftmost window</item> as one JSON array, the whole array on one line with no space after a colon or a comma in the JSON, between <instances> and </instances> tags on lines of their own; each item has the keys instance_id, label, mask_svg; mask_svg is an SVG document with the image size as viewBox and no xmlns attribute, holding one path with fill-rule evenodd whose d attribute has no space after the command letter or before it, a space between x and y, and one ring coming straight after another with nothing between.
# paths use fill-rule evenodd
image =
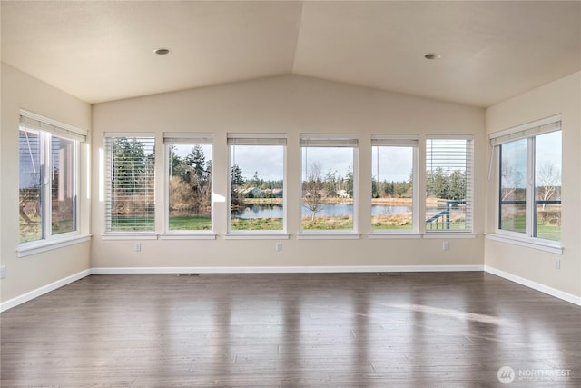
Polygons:
<instances>
[{"instance_id":1,"label":"lowered white horizontal blinds on the back wall's leftmost window","mask_svg":"<svg viewBox=\"0 0 581 388\"><path fill-rule=\"evenodd\" d=\"M107 180L105 230L153 232L155 139L153 136L105 137Z\"/></svg>"}]
</instances>

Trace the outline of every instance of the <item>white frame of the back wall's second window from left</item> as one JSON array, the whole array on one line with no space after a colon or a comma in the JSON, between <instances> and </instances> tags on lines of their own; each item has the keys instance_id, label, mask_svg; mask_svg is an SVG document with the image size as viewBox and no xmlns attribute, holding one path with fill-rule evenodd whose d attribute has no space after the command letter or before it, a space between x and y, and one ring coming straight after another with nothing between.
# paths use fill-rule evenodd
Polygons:
<instances>
[{"instance_id":1,"label":"white frame of the back wall's second window from left","mask_svg":"<svg viewBox=\"0 0 581 388\"><path fill-rule=\"evenodd\" d=\"M214 240L216 238L216 233L214 232L214 203L212 195L211 203L211 218L212 226L211 230L170 230L170 174L169 164L170 162L170 146L175 144L186 144L186 145L212 145L212 154L210 158L212 160L212 191L214 186L213 172L214 164L214 140L213 134L210 133L191 133L191 132L164 132L163 133L163 193L164 193L164 204L163 204L163 233L159 234L161 240Z\"/></svg>"}]
</instances>

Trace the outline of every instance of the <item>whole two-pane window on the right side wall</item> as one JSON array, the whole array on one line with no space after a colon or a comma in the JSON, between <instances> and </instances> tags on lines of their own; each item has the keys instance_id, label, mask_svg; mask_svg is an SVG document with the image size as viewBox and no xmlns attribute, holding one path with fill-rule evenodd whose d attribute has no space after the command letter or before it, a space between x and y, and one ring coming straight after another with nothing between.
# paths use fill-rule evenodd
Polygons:
<instances>
[{"instance_id":1,"label":"whole two-pane window on the right side wall","mask_svg":"<svg viewBox=\"0 0 581 388\"><path fill-rule=\"evenodd\" d=\"M560 118L492 134L491 142L499 161L497 230L560 241Z\"/></svg>"}]
</instances>

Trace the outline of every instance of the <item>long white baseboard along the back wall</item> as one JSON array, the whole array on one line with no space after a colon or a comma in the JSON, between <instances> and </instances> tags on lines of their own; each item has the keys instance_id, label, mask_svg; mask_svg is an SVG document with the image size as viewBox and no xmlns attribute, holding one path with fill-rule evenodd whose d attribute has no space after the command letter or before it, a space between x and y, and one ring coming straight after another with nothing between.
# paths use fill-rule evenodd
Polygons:
<instances>
[{"instance_id":1,"label":"long white baseboard along the back wall","mask_svg":"<svg viewBox=\"0 0 581 388\"><path fill-rule=\"evenodd\" d=\"M483 271L483 265L344 265L244 267L101 267L91 274L310 274Z\"/></svg>"}]
</instances>

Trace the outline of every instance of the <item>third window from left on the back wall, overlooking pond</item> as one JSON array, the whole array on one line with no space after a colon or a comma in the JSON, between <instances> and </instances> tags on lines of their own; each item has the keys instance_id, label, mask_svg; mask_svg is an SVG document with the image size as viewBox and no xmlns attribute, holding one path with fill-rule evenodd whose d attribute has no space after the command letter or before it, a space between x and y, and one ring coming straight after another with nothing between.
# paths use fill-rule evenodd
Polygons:
<instances>
[{"instance_id":1,"label":"third window from left on the back wall, overlooking pond","mask_svg":"<svg viewBox=\"0 0 581 388\"><path fill-rule=\"evenodd\" d=\"M286 138L232 134L229 231L284 231Z\"/></svg>"}]
</instances>

